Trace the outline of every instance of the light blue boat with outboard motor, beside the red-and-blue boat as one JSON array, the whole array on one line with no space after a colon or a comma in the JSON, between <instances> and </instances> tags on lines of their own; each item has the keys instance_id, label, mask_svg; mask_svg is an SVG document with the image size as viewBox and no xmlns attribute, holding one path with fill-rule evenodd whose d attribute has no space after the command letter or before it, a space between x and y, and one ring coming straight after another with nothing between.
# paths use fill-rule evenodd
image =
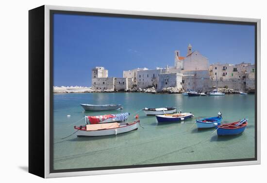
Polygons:
<instances>
[{"instance_id":1,"label":"light blue boat with outboard motor, beside the red-and-blue boat","mask_svg":"<svg viewBox=\"0 0 267 183\"><path fill-rule=\"evenodd\" d=\"M200 120L196 120L198 128L213 128L216 125L220 125L222 120L222 114L221 112L218 112L217 117L211 117L211 118L203 118Z\"/></svg>"}]
</instances>

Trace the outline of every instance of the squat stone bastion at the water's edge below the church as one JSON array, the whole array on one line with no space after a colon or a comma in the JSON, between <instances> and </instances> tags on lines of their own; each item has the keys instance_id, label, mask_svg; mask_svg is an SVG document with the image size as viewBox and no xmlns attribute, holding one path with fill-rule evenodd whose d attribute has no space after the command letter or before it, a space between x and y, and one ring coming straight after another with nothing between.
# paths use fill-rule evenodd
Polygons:
<instances>
[{"instance_id":1,"label":"squat stone bastion at the water's edge below the church","mask_svg":"<svg viewBox=\"0 0 267 183\"><path fill-rule=\"evenodd\" d=\"M181 73L166 73L160 74L158 80L158 89L162 90L163 88L175 87L178 89L183 88Z\"/></svg>"}]
</instances>

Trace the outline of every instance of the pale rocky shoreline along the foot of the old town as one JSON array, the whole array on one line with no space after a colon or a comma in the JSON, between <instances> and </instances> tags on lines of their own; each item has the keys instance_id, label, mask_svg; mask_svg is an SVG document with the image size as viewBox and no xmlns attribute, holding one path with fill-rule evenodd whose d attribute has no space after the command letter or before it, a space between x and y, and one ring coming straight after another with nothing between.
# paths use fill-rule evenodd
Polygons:
<instances>
[{"instance_id":1,"label":"pale rocky shoreline along the foot of the old town","mask_svg":"<svg viewBox=\"0 0 267 183\"><path fill-rule=\"evenodd\" d=\"M124 91L114 91L113 89L101 91L101 90L94 90L91 87L82 87L82 86L75 86L75 87L54 86L53 87L53 93L96 93L96 92L142 92L142 93L156 94L156 93L182 93L184 92L184 90L178 89L175 87L168 87L168 88L164 88L161 91L159 91L159 90L156 90L154 87L152 87L152 88L147 88L147 89L133 88L133 89L128 89ZM209 92L209 91L206 91L206 92ZM234 94L234 93L239 93L240 91L234 91L233 89L228 89L228 88L218 88L218 92L223 92L226 94ZM249 92L253 92L253 90L251 89Z\"/></svg>"}]
</instances>

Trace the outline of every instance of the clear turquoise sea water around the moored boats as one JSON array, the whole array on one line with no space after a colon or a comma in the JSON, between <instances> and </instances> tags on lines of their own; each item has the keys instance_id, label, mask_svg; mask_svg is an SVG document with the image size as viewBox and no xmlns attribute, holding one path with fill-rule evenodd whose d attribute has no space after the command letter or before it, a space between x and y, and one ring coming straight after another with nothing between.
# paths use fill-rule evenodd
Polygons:
<instances>
[{"instance_id":1,"label":"clear turquoise sea water around the moored boats","mask_svg":"<svg viewBox=\"0 0 267 183\"><path fill-rule=\"evenodd\" d=\"M54 94L54 169L180 163L254 157L254 94L188 97L182 94L67 93ZM79 104L121 104L122 110L83 112ZM157 124L144 107L177 107L195 117L183 122ZM138 112L143 128L105 137L67 137L84 115ZM245 132L217 137L215 129L198 130L195 120L217 116L223 123L248 118ZM69 118L67 115L71 115ZM128 121L134 121L131 115ZM73 124L74 122L77 122Z\"/></svg>"}]
</instances>

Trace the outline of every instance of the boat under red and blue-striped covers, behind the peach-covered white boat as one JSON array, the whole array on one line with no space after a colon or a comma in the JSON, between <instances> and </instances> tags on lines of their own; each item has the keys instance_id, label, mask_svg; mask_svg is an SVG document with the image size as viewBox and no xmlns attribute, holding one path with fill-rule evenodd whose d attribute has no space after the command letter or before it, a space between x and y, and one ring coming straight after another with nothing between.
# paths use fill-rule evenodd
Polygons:
<instances>
[{"instance_id":1,"label":"boat under red and blue-striped covers, behind the peach-covered white boat","mask_svg":"<svg viewBox=\"0 0 267 183\"><path fill-rule=\"evenodd\" d=\"M99 124L108 122L124 122L130 116L129 112L119 114L107 114L101 116L85 116L86 124Z\"/></svg>"}]
</instances>

